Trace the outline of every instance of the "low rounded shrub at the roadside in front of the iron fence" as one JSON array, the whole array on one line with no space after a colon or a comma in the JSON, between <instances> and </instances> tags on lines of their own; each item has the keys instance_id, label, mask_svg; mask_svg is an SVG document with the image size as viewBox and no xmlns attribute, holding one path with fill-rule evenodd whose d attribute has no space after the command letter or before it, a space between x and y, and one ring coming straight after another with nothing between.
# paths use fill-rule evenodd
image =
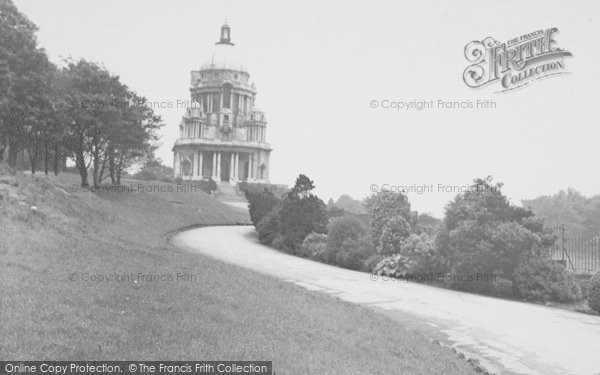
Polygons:
<instances>
[{"instance_id":1,"label":"low rounded shrub at the roadside in front of the iron fence","mask_svg":"<svg viewBox=\"0 0 600 375\"><path fill-rule=\"evenodd\" d=\"M582 298L573 275L557 262L542 257L532 257L517 267L514 283L525 300L568 303Z\"/></svg>"}]
</instances>

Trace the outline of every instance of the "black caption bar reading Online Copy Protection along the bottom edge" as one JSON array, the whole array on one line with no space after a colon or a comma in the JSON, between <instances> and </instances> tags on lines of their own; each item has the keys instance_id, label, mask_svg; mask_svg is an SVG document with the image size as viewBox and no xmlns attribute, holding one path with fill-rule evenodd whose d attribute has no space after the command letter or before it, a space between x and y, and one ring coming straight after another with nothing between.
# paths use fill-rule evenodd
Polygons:
<instances>
[{"instance_id":1,"label":"black caption bar reading Online Copy Protection along the bottom edge","mask_svg":"<svg viewBox=\"0 0 600 375\"><path fill-rule=\"evenodd\" d=\"M273 375L272 361L0 361L0 374Z\"/></svg>"}]
</instances>

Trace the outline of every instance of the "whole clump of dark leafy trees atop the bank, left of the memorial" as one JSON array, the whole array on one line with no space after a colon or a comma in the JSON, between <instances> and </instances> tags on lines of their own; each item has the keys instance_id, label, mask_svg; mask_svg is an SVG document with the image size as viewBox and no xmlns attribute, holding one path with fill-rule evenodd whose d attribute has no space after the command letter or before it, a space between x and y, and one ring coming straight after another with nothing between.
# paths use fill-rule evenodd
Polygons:
<instances>
[{"instance_id":1,"label":"whole clump of dark leafy trees atop the bank, left of the memorial","mask_svg":"<svg viewBox=\"0 0 600 375\"><path fill-rule=\"evenodd\" d=\"M66 157L75 161L83 186L93 166L93 184L109 164L113 183L131 163L152 155L160 118L146 100L106 69L81 60L52 65L38 48L37 27L10 0L0 0L0 157L9 149L16 166L27 150L32 173L44 160L48 173Z\"/></svg>"}]
</instances>

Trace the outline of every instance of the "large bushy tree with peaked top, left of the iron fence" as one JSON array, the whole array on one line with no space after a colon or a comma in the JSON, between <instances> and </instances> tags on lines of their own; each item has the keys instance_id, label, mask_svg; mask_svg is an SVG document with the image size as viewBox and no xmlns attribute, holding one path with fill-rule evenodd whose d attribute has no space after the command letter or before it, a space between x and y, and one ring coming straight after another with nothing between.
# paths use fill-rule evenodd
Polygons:
<instances>
[{"instance_id":1,"label":"large bushy tree with peaked top, left of the iron fence","mask_svg":"<svg viewBox=\"0 0 600 375\"><path fill-rule=\"evenodd\" d=\"M553 242L541 221L510 204L501 188L491 177L476 179L446 207L436 250L449 271L493 273L514 281L515 268L533 249Z\"/></svg>"}]
</instances>

